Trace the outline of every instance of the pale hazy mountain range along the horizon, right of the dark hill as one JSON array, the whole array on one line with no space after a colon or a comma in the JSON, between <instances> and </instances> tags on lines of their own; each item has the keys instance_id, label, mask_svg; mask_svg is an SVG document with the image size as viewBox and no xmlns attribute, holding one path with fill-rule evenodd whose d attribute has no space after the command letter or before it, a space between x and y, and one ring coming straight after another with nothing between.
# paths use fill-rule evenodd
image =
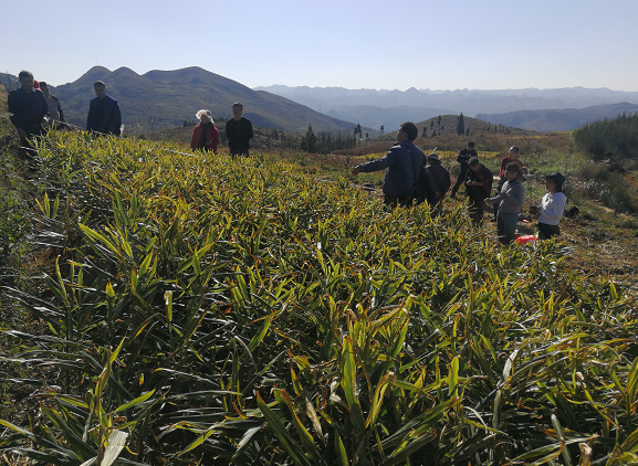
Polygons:
<instances>
[{"instance_id":1,"label":"pale hazy mountain range along the horizon, right of the dark hill","mask_svg":"<svg viewBox=\"0 0 638 466\"><path fill-rule=\"evenodd\" d=\"M343 87L257 87L307 105L326 115L359 123L373 128L394 130L406 120L422 120L446 114L478 117L479 114L502 114L522 110L581 109L592 106L638 104L638 93L608 88L430 91L411 87L407 91L346 89ZM621 112L620 112L621 113ZM592 112L584 119L590 120ZM602 115L602 119L605 115ZM551 129L552 115L547 116ZM577 118L581 120L582 118ZM492 123L499 123L493 120ZM532 129L532 128L530 128ZM574 128L572 128L574 129Z\"/></svg>"}]
</instances>

